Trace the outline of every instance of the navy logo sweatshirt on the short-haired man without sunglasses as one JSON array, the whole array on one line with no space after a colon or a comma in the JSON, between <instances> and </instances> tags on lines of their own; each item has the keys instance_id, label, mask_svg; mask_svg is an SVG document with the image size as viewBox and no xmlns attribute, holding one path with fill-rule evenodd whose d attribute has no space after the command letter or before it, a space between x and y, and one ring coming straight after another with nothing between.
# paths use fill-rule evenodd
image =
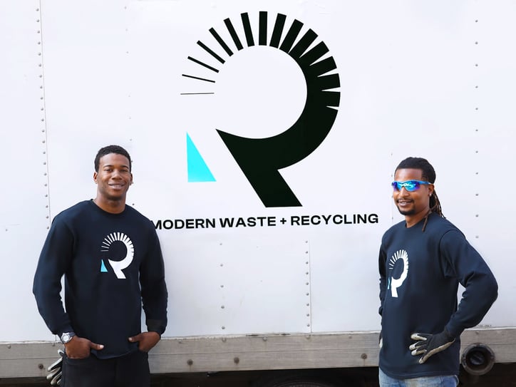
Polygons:
<instances>
[{"instance_id":1,"label":"navy logo sweatshirt on the short-haired man without sunglasses","mask_svg":"<svg viewBox=\"0 0 516 387\"><path fill-rule=\"evenodd\" d=\"M141 332L142 304L148 331L162 334L167 326L167 287L153 223L128 205L120 214L92 200L64 210L43 245L33 294L53 334L74 331L103 344L92 351L98 358L137 351L128 337Z\"/></svg>"}]
</instances>

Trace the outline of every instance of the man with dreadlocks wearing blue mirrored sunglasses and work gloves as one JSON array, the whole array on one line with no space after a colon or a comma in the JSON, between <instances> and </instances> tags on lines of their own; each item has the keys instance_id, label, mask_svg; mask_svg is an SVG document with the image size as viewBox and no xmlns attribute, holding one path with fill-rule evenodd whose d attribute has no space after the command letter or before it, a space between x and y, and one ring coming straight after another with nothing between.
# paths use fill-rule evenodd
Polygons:
<instances>
[{"instance_id":1,"label":"man with dreadlocks wearing blue mirrored sunglasses and work gloves","mask_svg":"<svg viewBox=\"0 0 516 387\"><path fill-rule=\"evenodd\" d=\"M484 259L445 220L434 182L424 158L396 167L393 199L405 220L383 235L379 254L381 387L457 386L460 334L497 298Z\"/></svg>"}]
</instances>

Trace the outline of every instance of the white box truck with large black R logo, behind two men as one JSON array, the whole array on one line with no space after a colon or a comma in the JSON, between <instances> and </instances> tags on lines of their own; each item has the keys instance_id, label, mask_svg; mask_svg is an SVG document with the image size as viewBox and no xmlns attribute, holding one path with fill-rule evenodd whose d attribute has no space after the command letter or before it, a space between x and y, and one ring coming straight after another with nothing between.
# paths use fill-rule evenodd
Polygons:
<instances>
[{"instance_id":1,"label":"white box truck with large black R logo, behind two men","mask_svg":"<svg viewBox=\"0 0 516 387\"><path fill-rule=\"evenodd\" d=\"M0 1L0 381L56 359L33 273L109 144L165 256L153 374L374 386L378 248L408 156L500 286L465 369L515 363L515 19L508 0Z\"/></svg>"}]
</instances>

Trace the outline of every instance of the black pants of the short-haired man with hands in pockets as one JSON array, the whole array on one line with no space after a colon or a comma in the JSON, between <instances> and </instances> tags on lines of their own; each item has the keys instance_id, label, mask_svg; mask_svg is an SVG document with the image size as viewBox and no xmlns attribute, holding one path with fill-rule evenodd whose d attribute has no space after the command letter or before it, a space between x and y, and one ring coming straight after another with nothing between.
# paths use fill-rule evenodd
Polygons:
<instances>
[{"instance_id":1,"label":"black pants of the short-haired man with hands in pockets","mask_svg":"<svg viewBox=\"0 0 516 387\"><path fill-rule=\"evenodd\" d=\"M148 387L148 354L136 351L118 358L63 358L64 387Z\"/></svg>"}]
</instances>

